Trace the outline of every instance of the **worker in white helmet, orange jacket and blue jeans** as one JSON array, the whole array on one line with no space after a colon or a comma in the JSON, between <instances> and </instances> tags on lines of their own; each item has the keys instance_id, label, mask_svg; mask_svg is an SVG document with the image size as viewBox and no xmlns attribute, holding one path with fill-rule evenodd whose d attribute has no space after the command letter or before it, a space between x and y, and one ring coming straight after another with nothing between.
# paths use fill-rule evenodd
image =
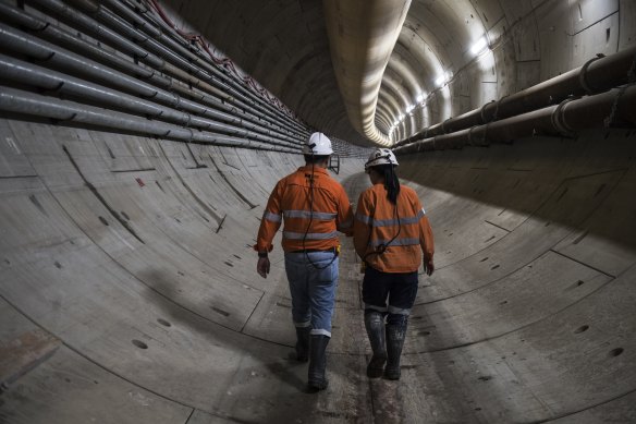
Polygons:
<instances>
[{"instance_id":1,"label":"worker in white helmet, orange jacket and blue jeans","mask_svg":"<svg viewBox=\"0 0 636 424\"><path fill-rule=\"evenodd\" d=\"M340 242L337 230L351 234L353 210L327 167L331 141L314 133L303 148L305 166L280 180L269 196L258 230L258 274L267 278L268 252L284 219L282 246L296 327L296 359L309 360L309 391L327 388L326 349L338 287Z\"/></svg>"}]
</instances>

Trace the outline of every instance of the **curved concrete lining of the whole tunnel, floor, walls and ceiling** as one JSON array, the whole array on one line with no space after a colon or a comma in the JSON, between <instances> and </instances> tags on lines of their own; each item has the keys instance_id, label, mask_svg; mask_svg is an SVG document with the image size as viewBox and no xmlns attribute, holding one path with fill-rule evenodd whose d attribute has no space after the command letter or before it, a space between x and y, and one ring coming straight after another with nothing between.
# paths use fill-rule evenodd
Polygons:
<instances>
[{"instance_id":1,"label":"curved concrete lining of the whole tunnel, floor, walls and ceiling","mask_svg":"<svg viewBox=\"0 0 636 424\"><path fill-rule=\"evenodd\" d=\"M339 89L323 4L158 3L301 122L207 84L211 68L186 48L183 69L142 54L160 32L118 39L137 53L102 38L108 25L83 32L103 8L120 11L110 22L123 32L151 1L3 1L32 21L0 14L1 422L636 421L633 102L632 124L402 150L402 182L423 199L437 247L403 378L365 376L359 262L342 238L331 383L309 396L306 366L288 359L283 255L277 243L260 279L252 245L311 128L370 144ZM375 124L405 140L634 48L635 22L631 0L413 0ZM359 152L334 174L353 202L368 186Z\"/></svg>"}]
</instances>

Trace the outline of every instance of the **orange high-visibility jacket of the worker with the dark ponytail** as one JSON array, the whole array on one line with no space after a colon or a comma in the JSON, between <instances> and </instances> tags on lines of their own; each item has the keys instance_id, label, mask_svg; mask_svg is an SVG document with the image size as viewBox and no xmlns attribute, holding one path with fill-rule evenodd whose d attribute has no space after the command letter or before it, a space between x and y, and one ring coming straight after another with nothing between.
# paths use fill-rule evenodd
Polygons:
<instances>
[{"instance_id":1,"label":"orange high-visibility jacket of the worker with the dark ponytail","mask_svg":"<svg viewBox=\"0 0 636 424\"><path fill-rule=\"evenodd\" d=\"M384 253L371 253L395 234L397 237ZM427 261L432 258L432 230L415 191L400 185L396 207L387 198L387 189L382 183L363 192L355 214L354 245L367 265L382 272L417 270L421 264L421 252Z\"/></svg>"}]
</instances>

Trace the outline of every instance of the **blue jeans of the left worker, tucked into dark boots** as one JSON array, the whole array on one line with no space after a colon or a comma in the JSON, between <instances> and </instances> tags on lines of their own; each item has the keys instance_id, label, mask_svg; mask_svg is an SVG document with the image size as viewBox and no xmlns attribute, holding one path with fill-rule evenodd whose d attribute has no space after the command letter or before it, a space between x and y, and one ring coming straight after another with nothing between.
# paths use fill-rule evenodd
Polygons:
<instances>
[{"instance_id":1,"label":"blue jeans of the left worker, tucked into dark boots","mask_svg":"<svg viewBox=\"0 0 636 424\"><path fill-rule=\"evenodd\" d=\"M331 337L339 261L333 255L333 252L285 253L292 319L296 327L310 326L311 335ZM315 266L307 262L307 256Z\"/></svg>"}]
</instances>

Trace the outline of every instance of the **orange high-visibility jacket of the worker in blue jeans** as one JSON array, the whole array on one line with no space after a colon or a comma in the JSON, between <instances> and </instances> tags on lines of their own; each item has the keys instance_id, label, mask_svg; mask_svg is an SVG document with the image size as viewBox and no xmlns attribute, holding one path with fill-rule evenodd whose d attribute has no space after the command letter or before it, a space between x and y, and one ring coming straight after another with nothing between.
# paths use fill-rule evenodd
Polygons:
<instances>
[{"instance_id":1,"label":"orange high-visibility jacket of the worker in blue jeans","mask_svg":"<svg viewBox=\"0 0 636 424\"><path fill-rule=\"evenodd\" d=\"M271 242L283 218L285 252L329 250L340 245L337 230L351 234L353 210L342 185L317 166L314 166L313 190L310 180L311 165L308 165L278 182L260 220L256 251L272 250Z\"/></svg>"}]
</instances>

